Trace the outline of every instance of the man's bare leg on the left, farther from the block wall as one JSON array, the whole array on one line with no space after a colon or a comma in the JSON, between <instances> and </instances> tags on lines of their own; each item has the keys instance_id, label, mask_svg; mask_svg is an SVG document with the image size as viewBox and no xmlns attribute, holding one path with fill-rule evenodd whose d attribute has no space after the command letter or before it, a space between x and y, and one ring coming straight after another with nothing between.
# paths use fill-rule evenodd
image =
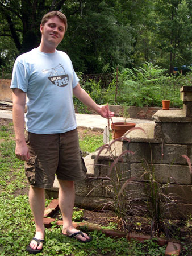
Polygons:
<instances>
[{"instance_id":1,"label":"man's bare leg on the left, farther from the block wall","mask_svg":"<svg viewBox=\"0 0 192 256\"><path fill-rule=\"evenodd\" d=\"M43 216L44 216L44 210L45 210L44 189L31 186L30 192L29 192L29 200L30 200L31 211L34 216L34 220L36 224L35 238L44 239L44 233L45 233L45 228L43 225ZM40 243L40 245L37 246L36 242L31 241L30 247L34 250L35 249L40 250L42 249L43 244Z\"/></svg>"}]
</instances>

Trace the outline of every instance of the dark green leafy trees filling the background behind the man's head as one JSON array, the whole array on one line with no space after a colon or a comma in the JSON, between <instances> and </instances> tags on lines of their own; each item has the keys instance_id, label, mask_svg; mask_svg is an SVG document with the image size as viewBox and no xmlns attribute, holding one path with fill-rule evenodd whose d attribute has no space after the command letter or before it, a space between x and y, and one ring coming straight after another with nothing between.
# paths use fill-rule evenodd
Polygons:
<instances>
[{"instance_id":1,"label":"dark green leafy trees filling the background behind the man's head","mask_svg":"<svg viewBox=\"0 0 192 256\"><path fill-rule=\"evenodd\" d=\"M192 63L191 0L0 0L0 69L40 43L45 13L60 10L68 31L58 49L84 73L137 67L173 72Z\"/></svg>"}]
</instances>

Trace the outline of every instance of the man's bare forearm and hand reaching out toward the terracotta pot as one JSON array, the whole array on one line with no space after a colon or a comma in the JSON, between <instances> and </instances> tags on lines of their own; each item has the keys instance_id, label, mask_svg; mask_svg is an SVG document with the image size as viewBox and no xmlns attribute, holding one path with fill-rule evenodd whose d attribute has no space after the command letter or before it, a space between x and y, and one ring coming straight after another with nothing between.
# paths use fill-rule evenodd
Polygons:
<instances>
[{"instance_id":1,"label":"man's bare forearm and hand reaching out toward the terracotta pot","mask_svg":"<svg viewBox=\"0 0 192 256\"><path fill-rule=\"evenodd\" d=\"M76 96L82 103L89 106L91 109L95 110L99 115L105 118L111 118L114 116L114 112L108 111L107 106L96 104L88 93L85 92L84 89L81 88L80 84L78 84L75 88L73 88L73 94Z\"/></svg>"}]
</instances>

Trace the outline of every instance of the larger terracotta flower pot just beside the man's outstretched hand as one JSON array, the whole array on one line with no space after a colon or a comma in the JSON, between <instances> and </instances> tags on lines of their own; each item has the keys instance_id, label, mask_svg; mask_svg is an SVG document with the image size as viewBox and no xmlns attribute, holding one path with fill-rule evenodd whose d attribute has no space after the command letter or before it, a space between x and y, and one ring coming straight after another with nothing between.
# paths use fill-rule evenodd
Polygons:
<instances>
[{"instance_id":1,"label":"larger terracotta flower pot just beside the man's outstretched hand","mask_svg":"<svg viewBox=\"0 0 192 256\"><path fill-rule=\"evenodd\" d=\"M113 139L117 139L123 136L126 131L130 130L131 128L135 127L136 123L124 123L124 122L116 122L111 123L111 128L113 130Z\"/></svg>"}]
</instances>

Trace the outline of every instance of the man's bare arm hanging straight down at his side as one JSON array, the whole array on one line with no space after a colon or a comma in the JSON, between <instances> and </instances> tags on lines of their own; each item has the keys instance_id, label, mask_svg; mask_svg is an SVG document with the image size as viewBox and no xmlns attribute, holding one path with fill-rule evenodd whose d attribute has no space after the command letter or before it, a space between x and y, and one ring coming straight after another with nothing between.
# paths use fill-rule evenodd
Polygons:
<instances>
[{"instance_id":1,"label":"man's bare arm hanging straight down at his side","mask_svg":"<svg viewBox=\"0 0 192 256\"><path fill-rule=\"evenodd\" d=\"M12 119L14 123L16 157L23 161L30 159L30 153L24 138L24 107L26 104L26 93L18 88L12 89Z\"/></svg>"}]
</instances>

